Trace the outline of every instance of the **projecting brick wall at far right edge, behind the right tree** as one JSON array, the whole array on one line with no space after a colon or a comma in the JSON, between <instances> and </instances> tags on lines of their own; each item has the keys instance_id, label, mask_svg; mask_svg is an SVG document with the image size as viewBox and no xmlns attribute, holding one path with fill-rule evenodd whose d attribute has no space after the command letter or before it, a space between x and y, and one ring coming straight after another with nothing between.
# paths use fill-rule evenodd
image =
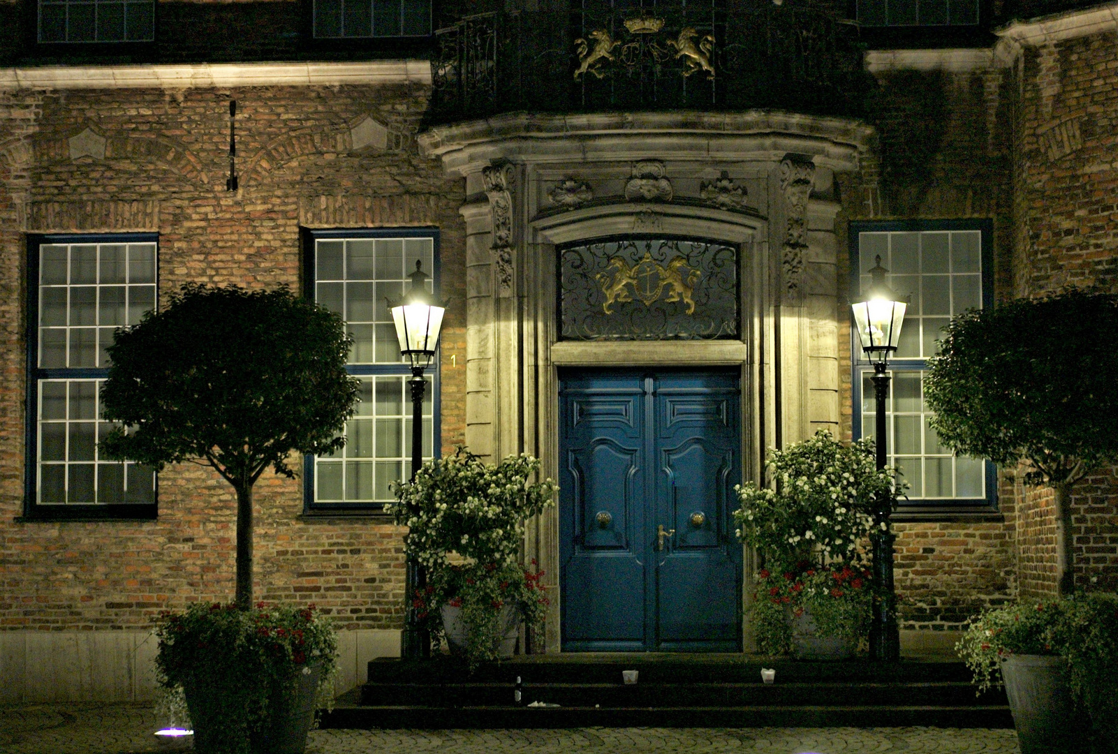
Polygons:
<instances>
[{"instance_id":1,"label":"projecting brick wall at far right edge, behind the right tree","mask_svg":"<svg viewBox=\"0 0 1118 754\"><path fill-rule=\"evenodd\" d=\"M1112 37L1107 31L1022 51L1013 122L1016 296L1065 286L1118 290L1118 77ZM1054 594L1052 491L1025 488L1018 494L1022 596ZM1115 469L1080 481L1072 489L1071 506L1077 586L1115 589Z\"/></svg>"}]
</instances>

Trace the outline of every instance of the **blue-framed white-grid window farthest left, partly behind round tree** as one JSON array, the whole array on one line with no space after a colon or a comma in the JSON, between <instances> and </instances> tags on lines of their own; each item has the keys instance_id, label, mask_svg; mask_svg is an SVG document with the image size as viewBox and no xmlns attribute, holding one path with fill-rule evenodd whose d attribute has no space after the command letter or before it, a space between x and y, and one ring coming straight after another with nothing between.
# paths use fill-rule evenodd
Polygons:
<instances>
[{"instance_id":1,"label":"blue-framed white-grid window farthest left, partly behind round tree","mask_svg":"<svg viewBox=\"0 0 1118 754\"><path fill-rule=\"evenodd\" d=\"M100 457L105 347L155 307L158 236L28 238L28 518L154 518L155 473Z\"/></svg>"}]
</instances>

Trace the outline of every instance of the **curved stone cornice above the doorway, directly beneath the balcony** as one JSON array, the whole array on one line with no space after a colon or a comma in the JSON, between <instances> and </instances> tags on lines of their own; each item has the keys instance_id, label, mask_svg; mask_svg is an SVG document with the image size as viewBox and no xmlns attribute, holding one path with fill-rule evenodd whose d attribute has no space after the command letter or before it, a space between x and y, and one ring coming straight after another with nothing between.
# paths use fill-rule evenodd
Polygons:
<instances>
[{"instance_id":1,"label":"curved stone cornice above the doorway, directly beneath the balcony","mask_svg":"<svg viewBox=\"0 0 1118 754\"><path fill-rule=\"evenodd\" d=\"M436 126L418 136L428 158L451 173L480 171L494 160L512 162L671 160L779 162L788 153L818 165L855 170L873 128L861 121L795 113L513 113Z\"/></svg>"}]
</instances>

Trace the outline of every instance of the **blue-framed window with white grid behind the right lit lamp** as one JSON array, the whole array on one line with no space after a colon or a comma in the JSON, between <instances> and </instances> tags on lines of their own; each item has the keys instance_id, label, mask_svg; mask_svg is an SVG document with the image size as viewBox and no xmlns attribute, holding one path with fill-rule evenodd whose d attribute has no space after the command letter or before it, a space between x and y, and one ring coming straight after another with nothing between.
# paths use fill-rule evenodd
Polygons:
<instances>
[{"instance_id":1,"label":"blue-framed window with white grid behind the right lit lamp","mask_svg":"<svg viewBox=\"0 0 1118 754\"><path fill-rule=\"evenodd\" d=\"M906 513L996 510L996 468L989 461L955 457L929 427L923 401L927 360L938 352L940 328L968 308L992 306L993 255L989 220L852 222L851 296L870 283L875 257L888 283L911 300L887 402L889 462L909 483ZM855 438L873 437L875 402L872 364L852 328L851 363Z\"/></svg>"}]
</instances>

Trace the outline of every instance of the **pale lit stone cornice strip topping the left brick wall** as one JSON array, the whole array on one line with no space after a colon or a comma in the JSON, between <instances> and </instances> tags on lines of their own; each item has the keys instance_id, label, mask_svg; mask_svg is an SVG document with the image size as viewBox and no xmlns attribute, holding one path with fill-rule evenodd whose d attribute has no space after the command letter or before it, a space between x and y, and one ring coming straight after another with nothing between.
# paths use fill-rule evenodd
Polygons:
<instances>
[{"instance_id":1,"label":"pale lit stone cornice strip topping the left brick wall","mask_svg":"<svg viewBox=\"0 0 1118 754\"><path fill-rule=\"evenodd\" d=\"M200 63L0 68L0 90L430 84L427 60Z\"/></svg>"}]
</instances>

